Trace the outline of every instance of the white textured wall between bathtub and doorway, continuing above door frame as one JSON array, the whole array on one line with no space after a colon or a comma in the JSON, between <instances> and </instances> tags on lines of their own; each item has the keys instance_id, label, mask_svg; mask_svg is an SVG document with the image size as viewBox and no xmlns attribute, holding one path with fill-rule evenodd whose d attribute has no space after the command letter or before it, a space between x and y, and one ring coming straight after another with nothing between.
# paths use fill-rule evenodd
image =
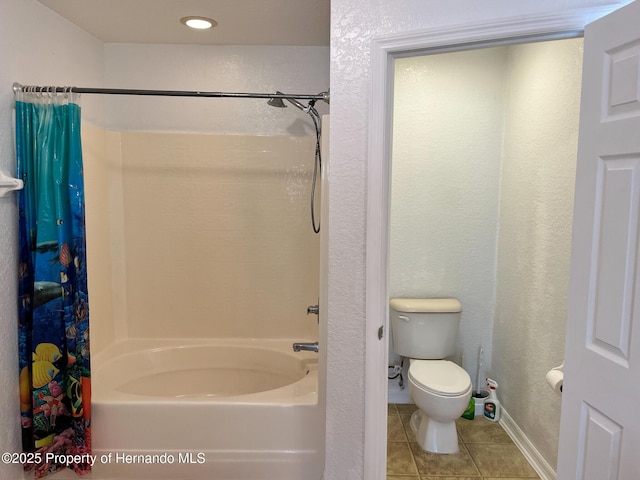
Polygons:
<instances>
[{"instance_id":1,"label":"white textured wall between bathtub and doorway, continuing above door frame","mask_svg":"<svg viewBox=\"0 0 640 480\"><path fill-rule=\"evenodd\" d=\"M325 480L363 479L366 165L371 40L514 15L561 14L601 0L333 0L327 457ZM386 372L385 372L386 373Z\"/></svg>"}]
</instances>

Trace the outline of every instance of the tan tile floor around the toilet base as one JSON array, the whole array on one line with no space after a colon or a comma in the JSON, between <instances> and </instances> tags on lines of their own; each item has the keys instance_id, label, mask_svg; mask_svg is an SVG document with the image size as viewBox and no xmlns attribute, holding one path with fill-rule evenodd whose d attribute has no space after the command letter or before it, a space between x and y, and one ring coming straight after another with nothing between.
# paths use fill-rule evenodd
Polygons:
<instances>
[{"instance_id":1,"label":"tan tile floor around the toilet base","mask_svg":"<svg viewBox=\"0 0 640 480\"><path fill-rule=\"evenodd\" d=\"M458 419L460 453L423 451L409 426L415 405L390 404L387 426L387 480L539 479L498 423Z\"/></svg>"}]
</instances>

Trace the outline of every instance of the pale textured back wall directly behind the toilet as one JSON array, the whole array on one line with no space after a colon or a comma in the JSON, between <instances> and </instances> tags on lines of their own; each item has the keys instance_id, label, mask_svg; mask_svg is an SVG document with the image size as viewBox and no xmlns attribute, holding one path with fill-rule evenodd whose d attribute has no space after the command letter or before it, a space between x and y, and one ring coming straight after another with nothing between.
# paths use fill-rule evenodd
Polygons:
<instances>
[{"instance_id":1,"label":"pale textured back wall directly behind the toilet","mask_svg":"<svg viewBox=\"0 0 640 480\"><path fill-rule=\"evenodd\" d=\"M456 297L491 360L507 47L395 62L390 296Z\"/></svg>"}]
</instances>

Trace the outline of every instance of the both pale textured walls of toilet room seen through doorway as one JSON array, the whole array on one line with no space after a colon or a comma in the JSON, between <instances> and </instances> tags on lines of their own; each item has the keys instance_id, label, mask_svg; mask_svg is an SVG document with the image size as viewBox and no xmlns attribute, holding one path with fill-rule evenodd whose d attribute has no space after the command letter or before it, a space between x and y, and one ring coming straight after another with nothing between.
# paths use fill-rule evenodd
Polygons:
<instances>
[{"instance_id":1,"label":"both pale textured walls of toilet room seen through doorway","mask_svg":"<svg viewBox=\"0 0 640 480\"><path fill-rule=\"evenodd\" d=\"M561 402L544 379L564 350L582 45L395 60L389 295L461 300L458 360L478 388L483 348L479 387L498 380L542 471L557 461Z\"/></svg>"}]
</instances>

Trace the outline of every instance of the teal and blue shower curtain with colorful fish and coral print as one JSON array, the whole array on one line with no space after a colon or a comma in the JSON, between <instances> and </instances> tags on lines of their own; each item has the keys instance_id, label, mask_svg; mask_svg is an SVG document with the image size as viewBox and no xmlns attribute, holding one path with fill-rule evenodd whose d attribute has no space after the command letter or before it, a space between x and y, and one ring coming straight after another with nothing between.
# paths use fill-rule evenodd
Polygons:
<instances>
[{"instance_id":1,"label":"teal and blue shower curtain with colorful fish and coral print","mask_svg":"<svg viewBox=\"0 0 640 480\"><path fill-rule=\"evenodd\" d=\"M16 99L18 335L25 464L42 478L89 473L91 375L84 182L77 95ZM49 453L49 455L46 455ZM80 455L64 465L57 455ZM68 458L68 457L67 457Z\"/></svg>"}]
</instances>

